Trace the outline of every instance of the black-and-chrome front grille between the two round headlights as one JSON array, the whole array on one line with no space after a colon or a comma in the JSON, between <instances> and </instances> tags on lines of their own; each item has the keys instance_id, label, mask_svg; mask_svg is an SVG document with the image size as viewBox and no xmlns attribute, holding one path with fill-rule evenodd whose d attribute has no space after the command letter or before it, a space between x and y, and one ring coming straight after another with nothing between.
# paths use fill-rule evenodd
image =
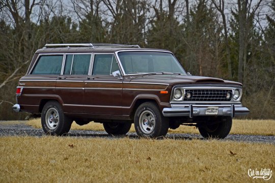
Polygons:
<instances>
[{"instance_id":1,"label":"black-and-chrome front grille between the two round headlights","mask_svg":"<svg viewBox=\"0 0 275 183\"><path fill-rule=\"evenodd\" d=\"M191 98L187 99L186 94L191 93ZM230 99L227 93L230 92ZM185 89L184 101L231 101L231 89Z\"/></svg>"}]
</instances>

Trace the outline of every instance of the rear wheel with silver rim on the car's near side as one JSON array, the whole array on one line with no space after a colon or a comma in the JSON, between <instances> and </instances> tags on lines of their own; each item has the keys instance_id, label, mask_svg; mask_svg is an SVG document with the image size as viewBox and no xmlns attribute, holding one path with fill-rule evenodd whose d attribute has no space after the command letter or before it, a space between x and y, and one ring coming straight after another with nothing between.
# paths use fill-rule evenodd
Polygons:
<instances>
[{"instance_id":1,"label":"rear wheel with silver rim on the car's near side","mask_svg":"<svg viewBox=\"0 0 275 183\"><path fill-rule=\"evenodd\" d=\"M70 131L72 119L64 115L63 109L57 101L49 101L43 107L41 124L46 134L61 136Z\"/></svg>"}]
</instances>

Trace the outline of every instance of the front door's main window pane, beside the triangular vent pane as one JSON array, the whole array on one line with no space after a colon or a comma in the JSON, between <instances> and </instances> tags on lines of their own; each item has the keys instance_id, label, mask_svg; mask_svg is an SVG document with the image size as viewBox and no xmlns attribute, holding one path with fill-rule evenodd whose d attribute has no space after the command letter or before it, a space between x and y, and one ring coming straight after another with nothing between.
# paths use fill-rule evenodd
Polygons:
<instances>
[{"instance_id":1,"label":"front door's main window pane, beside the triangular vent pane","mask_svg":"<svg viewBox=\"0 0 275 183\"><path fill-rule=\"evenodd\" d=\"M94 58L93 75L110 75L113 54L96 54ZM115 65L114 65L115 67Z\"/></svg>"}]
</instances>

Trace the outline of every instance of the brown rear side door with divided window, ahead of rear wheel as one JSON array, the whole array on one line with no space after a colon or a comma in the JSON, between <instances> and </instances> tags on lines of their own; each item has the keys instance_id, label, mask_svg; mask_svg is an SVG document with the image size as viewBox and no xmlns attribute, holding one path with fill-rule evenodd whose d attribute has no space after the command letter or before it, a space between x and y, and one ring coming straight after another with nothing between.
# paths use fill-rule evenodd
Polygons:
<instances>
[{"instance_id":1,"label":"brown rear side door with divided window, ahead of rear wheel","mask_svg":"<svg viewBox=\"0 0 275 183\"><path fill-rule=\"evenodd\" d=\"M84 81L89 73L91 53L72 53L65 55L63 74L58 77L56 94L64 102L64 112L84 112Z\"/></svg>"}]
</instances>

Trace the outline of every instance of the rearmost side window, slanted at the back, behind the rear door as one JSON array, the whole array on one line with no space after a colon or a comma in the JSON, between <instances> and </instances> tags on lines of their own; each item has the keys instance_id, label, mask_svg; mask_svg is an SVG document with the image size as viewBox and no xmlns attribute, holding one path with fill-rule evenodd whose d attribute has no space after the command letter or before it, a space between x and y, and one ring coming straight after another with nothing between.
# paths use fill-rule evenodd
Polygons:
<instances>
[{"instance_id":1,"label":"rearmost side window, slanted at the back, behind the rear door","mask_svg":"<svg viewBox=\"0 0 275 183\"><path fill-rule=\"evenodd\" d=\"M63 55L42 55L39 57L32 74L36 75L60 75Z\"/></svg>"}]
</instances>

